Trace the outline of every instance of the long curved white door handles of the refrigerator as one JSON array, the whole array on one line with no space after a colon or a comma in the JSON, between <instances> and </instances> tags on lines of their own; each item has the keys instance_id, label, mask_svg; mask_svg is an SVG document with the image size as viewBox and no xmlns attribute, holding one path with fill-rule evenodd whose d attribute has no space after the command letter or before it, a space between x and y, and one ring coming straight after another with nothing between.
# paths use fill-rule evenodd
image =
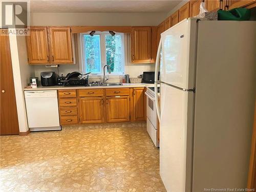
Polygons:
<instances>
[{"instance_id":1,"label":"long curved white door handles of the refrigerator","mask_svg":"<svg viewBox=\"0 0 256 192\"><path fill-rule=\"evenodd\" d=\"M158 80L158 68L160 63L160 51L162 48L162 38L160 38L158 49L157 49L157 57L156 57L156 68L155 68L155 90L157 90L157 80ZM159 102L158 102L158 94L155 94L155 102L156 102L156 111L157 117L160 122L160 109L159 109Z\"/></svg>"}]
</instances>

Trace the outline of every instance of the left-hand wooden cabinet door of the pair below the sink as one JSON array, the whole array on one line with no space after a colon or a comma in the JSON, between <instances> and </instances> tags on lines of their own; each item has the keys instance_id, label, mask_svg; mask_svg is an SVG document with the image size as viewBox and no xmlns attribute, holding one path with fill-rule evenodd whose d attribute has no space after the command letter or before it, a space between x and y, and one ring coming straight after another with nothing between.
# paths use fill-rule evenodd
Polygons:
<instances>
[{"instance_id":1,"label":"left-hand wooden cabinet door of the pair below the sink","mask_svg":"<svg viewBox=\"0 0 256 192\"><path fill-rule=\"evenodd\" d=\"M80 123L103 123L103 97L80 97Z\"/></svg>"}]
</instances>

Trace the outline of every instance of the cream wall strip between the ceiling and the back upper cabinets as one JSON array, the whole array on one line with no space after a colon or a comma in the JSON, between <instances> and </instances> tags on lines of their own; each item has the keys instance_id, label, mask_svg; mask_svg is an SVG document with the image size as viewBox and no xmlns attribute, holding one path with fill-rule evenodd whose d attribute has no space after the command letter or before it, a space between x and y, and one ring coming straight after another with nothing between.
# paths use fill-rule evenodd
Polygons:
<instances>
[{"instance_id":1,"label":"cream wall strip between the ceiling and the back upper cabinets","mask_svg":"<svg viewBox=\"0 0 256 192\"><path fill-rule=\"evenodd\" d=\"M154 26L165 17L165 13L31 13L31 25Z\"/></svg>"}]
</instances>

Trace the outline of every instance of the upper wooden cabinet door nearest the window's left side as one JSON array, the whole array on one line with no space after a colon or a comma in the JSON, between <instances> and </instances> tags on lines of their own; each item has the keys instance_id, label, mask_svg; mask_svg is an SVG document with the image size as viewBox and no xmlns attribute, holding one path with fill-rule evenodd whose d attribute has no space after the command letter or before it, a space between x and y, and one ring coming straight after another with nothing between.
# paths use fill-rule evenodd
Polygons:
<instances>
[{"instance_id":1,"label":"upper wooden cabinet door nearest the window's left side","mask_svg":"<svg viewBox=\"0 0 256 192\"><path fill-rule=\"evenodd\" d=\"M70 27L50 27L52 63L72 63Z\"/></svg>"}]
</instances>

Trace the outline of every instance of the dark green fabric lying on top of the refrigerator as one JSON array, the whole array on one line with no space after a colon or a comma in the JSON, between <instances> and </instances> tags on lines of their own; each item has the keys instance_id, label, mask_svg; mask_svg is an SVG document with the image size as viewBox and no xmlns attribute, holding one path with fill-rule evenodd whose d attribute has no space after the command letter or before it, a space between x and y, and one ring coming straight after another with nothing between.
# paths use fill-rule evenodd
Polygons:
<instances>
[{"instance_id":1,"label":"dark green fabric lying on top of the refrigerator","mask_svg":"<svg viewBox=\"0 0 256 192\"><path fill-rule=\"evenodd\" d=\"M229 11L218 11L218 20L249 20L251 11L246 8L234 8Z\"/></svg>"}]
</instances>

